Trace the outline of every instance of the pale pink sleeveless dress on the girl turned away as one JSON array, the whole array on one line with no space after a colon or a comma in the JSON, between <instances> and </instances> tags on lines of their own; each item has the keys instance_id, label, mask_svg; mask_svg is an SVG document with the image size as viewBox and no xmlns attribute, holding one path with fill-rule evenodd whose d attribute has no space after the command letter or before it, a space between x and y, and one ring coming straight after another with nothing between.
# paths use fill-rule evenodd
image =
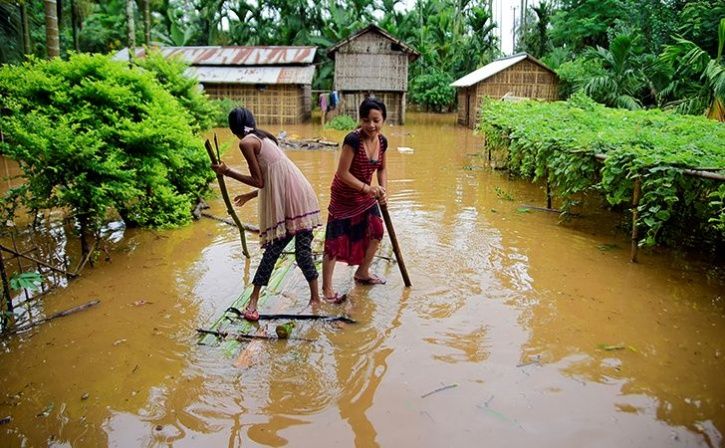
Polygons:
<instances>
[{"instance_id":1,"label":"pale pink sleeveless dress on the girl turned away","mask_svg":"<svg viewBox=\"0 0 725 448\"><path fill-rule=\"evenodd\" d=\"M260 139L257 155L264 187L259 189L259 238L270 242L321 225L320 204L302 171L269 138Z\"/></svg>"}]
</instances>

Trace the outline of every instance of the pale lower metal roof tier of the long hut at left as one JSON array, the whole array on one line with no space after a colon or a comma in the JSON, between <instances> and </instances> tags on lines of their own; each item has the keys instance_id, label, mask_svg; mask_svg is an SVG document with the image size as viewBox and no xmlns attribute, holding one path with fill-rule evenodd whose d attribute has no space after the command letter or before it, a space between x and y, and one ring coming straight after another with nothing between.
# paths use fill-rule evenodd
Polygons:
<instances>
[{"instance_id":1,"label":"pale lower metal roof tier of the long hut at left","mask_svg":"<svg viewBox=\"0 0 725 448\"><path fill-rule=\"evenodd\" d=\"M312 84L315 67L189 67L204 84Z\"/></svg>"}]
</instances>

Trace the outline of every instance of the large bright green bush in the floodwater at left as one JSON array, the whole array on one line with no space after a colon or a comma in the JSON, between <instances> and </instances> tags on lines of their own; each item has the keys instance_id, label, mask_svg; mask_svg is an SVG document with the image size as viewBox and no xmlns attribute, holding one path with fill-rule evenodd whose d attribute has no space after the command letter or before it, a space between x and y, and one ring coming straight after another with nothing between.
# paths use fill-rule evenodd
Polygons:
<instances>
[{"instance_id":1,"label":"large bright green bush in the floodwater at left","mask_svg":"<svg viewBox=\"0 0 725 448\"><path fill-rule=\"evenodd\" d=\"M101 55L0 68L0 152L25 178L3 198L3 219L19 206L61 208L78 220L82 237L113 210L128 225L190 219L213 175L193 133L200 123L157 80L168 76L174 85L179 67L155 61L147 68Z\"/></svg>"}]
</instances>

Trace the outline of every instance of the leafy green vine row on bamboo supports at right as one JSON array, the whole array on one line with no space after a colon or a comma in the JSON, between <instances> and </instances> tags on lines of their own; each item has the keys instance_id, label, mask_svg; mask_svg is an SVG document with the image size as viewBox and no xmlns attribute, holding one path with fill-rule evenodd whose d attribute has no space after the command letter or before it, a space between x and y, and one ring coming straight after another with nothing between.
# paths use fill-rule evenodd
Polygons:
<instances>
[{"instance_id":1,"label":"leafy green vine row on bamboo supports at right","mask_svg":"<svg viewBox=\"0 0 725 448\"><path fill-rule=\"evenodd\" d=\"M547 178L565 212L587 191L601 192L612 206L630 204L640 179L640 245L725 241L725 183L683 172L725 171L722 123L609 109L578 94L554 103L486 101L478 130L492 149L507 150L512 172Z\"/></svg>"}]
</instances>

